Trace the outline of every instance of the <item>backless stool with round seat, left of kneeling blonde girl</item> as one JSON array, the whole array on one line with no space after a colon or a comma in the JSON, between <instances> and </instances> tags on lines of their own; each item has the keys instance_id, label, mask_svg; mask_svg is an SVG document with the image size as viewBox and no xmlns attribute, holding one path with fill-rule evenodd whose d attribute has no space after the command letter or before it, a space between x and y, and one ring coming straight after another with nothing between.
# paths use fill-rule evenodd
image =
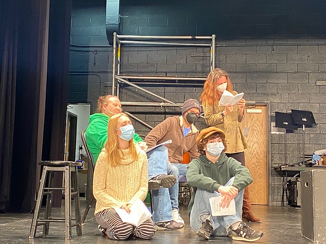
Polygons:
<instances>
[{"instance_id":1,"label":"backless stool with round seat, left of kneeling blonde girl","mask_svg":"<svg viewBox=\"0 0 326 244\"><path fill-rule=\"evenodd\" d=\"M63 222L65 223L65 239L70 240L72 235L72 228L76 227L77 235L82 235L80 206L79 206L79 190L77 183L77 166L81 166L81 162L70 161L40 161L39 165L43 166L43 172L38 188L36 199L36 207L33 215L31 231L29 238L33 239L36 234L37 226L43 225L43 235L49 234L50 222ZM61 171L64 174L64 186L53 187L54 172ZM48 174L49 173L49 174ZM49 176L49 177L48 177ZM48 178L48 187L45 186L46 179ZM51 218L52 208L52 190L63 190L65 192L65 218ZM43 195L47 195L44 219L39 218L39 211L41 208L41 201ZM75 219L71 216L71 200L74 199ZM75 224L72 225L72 220Z\"/></svg>"}]
</instances>

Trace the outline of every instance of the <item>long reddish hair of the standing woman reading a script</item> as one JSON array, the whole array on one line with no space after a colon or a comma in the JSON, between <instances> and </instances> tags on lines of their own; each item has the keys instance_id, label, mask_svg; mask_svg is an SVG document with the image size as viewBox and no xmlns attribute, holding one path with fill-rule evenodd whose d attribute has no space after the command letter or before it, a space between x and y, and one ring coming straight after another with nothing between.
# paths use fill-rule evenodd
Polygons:
<instances>
[{"instance_id":1,"label":"long reddish hair of the standing woman reading a script","mask_svg":"<svg viewBox=\"0 0 326 244\"><path fill-rule=\"evenodd\" d=\"M233 91L233 86L229 78L229 74L224 70L214 69L208 74L207 79L204 83L204 87L201 92L200 100L202 101L203 104L204 103L212 104L216 101L219 101L221 96L217 93L216 82L222 76L225 76L226 78L226 83L227 83L226 90L230 92Z\"/></svg>"}]
</instances>

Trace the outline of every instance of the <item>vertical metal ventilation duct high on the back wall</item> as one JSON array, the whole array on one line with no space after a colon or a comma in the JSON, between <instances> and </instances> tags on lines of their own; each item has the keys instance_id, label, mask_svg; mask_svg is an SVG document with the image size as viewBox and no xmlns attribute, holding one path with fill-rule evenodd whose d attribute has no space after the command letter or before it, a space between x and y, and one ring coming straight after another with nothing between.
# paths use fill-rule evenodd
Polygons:
<instances>
[{"instance_id":1,"label":"vertical metal ventilation duct high on the back wall","mask_svg":"<svg viewBox=\"0 0 326 244\"><path fill-rule=\"evenodd\" d=\"M113 44L113 32L120 34L120 0L107 0L107 18L105 26L109 44Z\"/></svg>"}]
</instances>

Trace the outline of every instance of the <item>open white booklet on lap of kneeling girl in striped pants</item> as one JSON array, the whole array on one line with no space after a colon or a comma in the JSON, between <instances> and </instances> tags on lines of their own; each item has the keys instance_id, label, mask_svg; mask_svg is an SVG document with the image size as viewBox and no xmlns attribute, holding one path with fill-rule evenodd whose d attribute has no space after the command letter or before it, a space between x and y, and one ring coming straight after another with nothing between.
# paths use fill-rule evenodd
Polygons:
<instances>
[{"instance_id":1,"label":"open white booklet on lap of kneeling girl in striped pants","mask_svg":"<svg viewBox=\"0 0 326 244\"><path fill-rule=\"evenodd\" d=\"M117 211L123 222L129 223L136 227L143 224L147 219L152 217L152 214L148 211L147 207L140 199L137 199L131 206L130 213L127 213L125 209L114 209Z\"/></svg>"}]
</instances>

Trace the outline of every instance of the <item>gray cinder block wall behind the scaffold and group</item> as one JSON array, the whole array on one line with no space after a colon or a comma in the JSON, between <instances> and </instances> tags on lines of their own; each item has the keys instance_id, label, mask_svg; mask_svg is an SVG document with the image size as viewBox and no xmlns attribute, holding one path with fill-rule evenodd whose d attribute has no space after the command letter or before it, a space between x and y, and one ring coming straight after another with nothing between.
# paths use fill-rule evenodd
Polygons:
<instances>
[{"instance_id":1,"label":"gray cinder block wall behind the scaffold and group","mask_svg":"<svg viewBox=\"0 0 326 244\"><path fill-rule=\"evenodd\" d=\"M71 48L69 101L90 102L91 110L95 109L100 94L111 94L112 86L112 48L108 46L106 38L105 6L101 4L100 1L92 6L75 3L72 12L72 44L85 46ZM320 23L316 23L315 18L315 23L306 21L303 24L296 16L300 11L298 13L281 11L275 18L283 19L283 22L278 20L276 25L269 25L268 19L271 16L268 16L267 12L275 9L266 7L264 12L266 16L252 15L252 22L249 20L241 22L241 19L247 17L241 16L240 12L234 13L234 18L225 17L229 19L226 28L222 25L224 22L217 21L222 19L220 16L213 18L213 15L220 14L218 11L207 13L199 8L195 11L195 16L189 14L196 7L195 3L187 7L178 6L171 11L169 4L172 3L169 1L153 6L149 6L150 4L137 6L132 1L121 4L125 4L121 7L122 15L128 16L122 19L121 28L124 35L216 34L216 67L229 72L235 90L244 92L245 99L249 101L270 101L272 121L275 111L289 112L290 109L312 111L318 125L306 130L305 153L311 154L315 150L326 148L326 87L316 86L316 81L326 80L326 38L318 36L321 35L318 28L324 30L325 34L325 20L319 18ZM232 1L229 4L227 9L232 12ZM278 6L278 9L281 9L280 6L284 7L284 4L288 3L279 4L283 4ZM320 4L319 8L315 5L309 5L308 8L306 6L308 11L317 9L313 14L317 19L321 15L319 9L325 7L324 2ZM234 9L241 10L244 7L236 6ZM263 7L260 8L262 11ZM245 9L249 11L248 8ZM265 22L259 22L259 19L262 20L264 17L267 18ZM292 21L294 19L298 21ZM262 23L265 25L262 26ZM204 28L199 28L203 25ZM87 47L88 45L92 46ZM124 74L137 75L207 76L209 50L124 46L122 71ZM188 98L199 99L201 94L200 87L147 88L180 103ZM120 99L130 102L156 101L144 92L136 92L132 87L123 88ZM162 122L167 116L181 112L179 108L124 109L151 126ZM165 111L167 113L164 113ZM134 122L134 125L139 134L146 135L148 132L142 124ZM196 125L199 129L206 126L203 120ZM288 134L287 142L288 162L299 161L303 150L302 129ZM284 163L284 134L271 134L271 154L272 166ZM281 195L282 178L272 170L272 205L281 205Z\"/></svg>"}]
</instances>

